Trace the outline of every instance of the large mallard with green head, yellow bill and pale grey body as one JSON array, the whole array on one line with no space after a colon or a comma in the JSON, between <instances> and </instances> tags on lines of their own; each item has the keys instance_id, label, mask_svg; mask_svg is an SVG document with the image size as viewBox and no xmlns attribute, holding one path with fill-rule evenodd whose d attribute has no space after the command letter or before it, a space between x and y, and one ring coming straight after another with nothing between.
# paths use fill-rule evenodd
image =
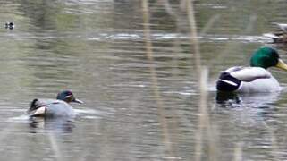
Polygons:
<instances>
[{"instance_id":1,"label":"large mallard with green head, yellow bill and pale grey body","mask_svg":"<svg viewBox=\"0 0 287 161\"><path fill-rule=\"evenodd\" d=\"M251 56L250 66L235 66L222 72L216 81L216 89L224 92L274 92L279 91L278 81L267 71L269 67L287 71L287 65L272 47L260 47Z\"/></svg>"}]
</instances>

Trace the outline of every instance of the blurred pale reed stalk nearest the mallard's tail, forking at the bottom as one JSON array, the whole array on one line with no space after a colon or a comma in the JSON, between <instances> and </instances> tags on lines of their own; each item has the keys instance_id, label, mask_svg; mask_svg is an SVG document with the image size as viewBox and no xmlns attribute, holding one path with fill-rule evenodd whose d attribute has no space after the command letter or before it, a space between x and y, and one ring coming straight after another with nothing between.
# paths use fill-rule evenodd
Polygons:
<instances>
[{"instance_id":1,"label":"blurred pale reed stalk nearest the mallard's tail, forking at the bottom","mask_svg":"<svg viewBox=\"0 0 287 161\"><path fill-rule=\"evenodd\" d=\"M198 121L198 131L196 134L196 152L195 160L199 161L202 158L202 145L203 145L203 135L204 128L207 128L207 140L208 140L208 158L209 160L216 160L215 156L215 141L213 140L213 132L210 127L209 114L207 111L207 68L203 67L201 64L201 56L198 43L198 33L196 27L196 20L194 16L193 1L188 0L186 4L186 9L188 13L188 20L190 22L190 45L192 45L193 53L195 55L195 64L198 72L198 90L200 94L200 100L198 101L199 108L199 121ZM211 24L210 24L211 25ZM191 49L191 51L192 51Z\"/></svg>"}]
</instances>

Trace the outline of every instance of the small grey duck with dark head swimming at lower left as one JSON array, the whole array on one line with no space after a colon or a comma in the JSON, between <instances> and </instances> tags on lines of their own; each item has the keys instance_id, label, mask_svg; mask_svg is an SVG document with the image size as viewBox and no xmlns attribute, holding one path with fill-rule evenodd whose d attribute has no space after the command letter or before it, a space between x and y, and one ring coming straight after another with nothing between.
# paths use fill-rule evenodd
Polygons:
<instances>
[{"instance_id":1,"label":"small grey duck with dark head swimming at lower left","mask_svg":"<svg viewBox=\"0 0 287 161\"><path fill-rule=\"evenodd\" d=\"M72 91L64 90L57 95L56 99L34 99L27 113L30 117L73 117L75 114L72 106L69 105L72 102L83 103L73 96Z\"/></svg>"}]
</instances>

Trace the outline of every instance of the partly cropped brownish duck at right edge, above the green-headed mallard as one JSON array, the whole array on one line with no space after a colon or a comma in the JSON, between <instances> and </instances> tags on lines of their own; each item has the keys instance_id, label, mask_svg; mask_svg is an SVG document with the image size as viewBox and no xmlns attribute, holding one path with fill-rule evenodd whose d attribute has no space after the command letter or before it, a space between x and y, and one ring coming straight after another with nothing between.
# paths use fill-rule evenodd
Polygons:
<instances>
[{"instance_id":1,"label":"partly cropped brownish duck at right edge, above the green-headed mallard","mask_svg":"<svg viewBox=\"0 0 287 161\"><path fill-rule=\"evenodd\" d=\"M265 33L263 36L266 38L272 38L274 43L287 43L287 24L285 23L273 23L278 27L277 31L273 33Z\"/></svg>"}]
</instances>

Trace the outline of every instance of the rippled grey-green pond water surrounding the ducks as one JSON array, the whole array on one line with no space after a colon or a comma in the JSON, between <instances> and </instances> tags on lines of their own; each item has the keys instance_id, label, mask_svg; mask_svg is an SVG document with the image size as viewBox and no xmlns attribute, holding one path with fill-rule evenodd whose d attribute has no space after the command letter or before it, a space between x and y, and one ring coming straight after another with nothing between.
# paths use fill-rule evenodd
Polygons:
<instances>
[{"instance_id":1,"label":"rippled grey-green pond water surrounding the ducks","mask_svg":"<svg viewBox=\"0 0 287 161\"><path fill-rule=\"evenodd\" d=\"M271 69L280 93L222 97L214 84L270 42L262 34L286 22L287 3L195 1L208 69L202 124L184 2L150 1L150 62L139 0L1 1L0 160L285 159L287 73ZM84 101L72 105L77 117L31 124L30 101L63 89Z\"/></svg>"}]
</instances>

